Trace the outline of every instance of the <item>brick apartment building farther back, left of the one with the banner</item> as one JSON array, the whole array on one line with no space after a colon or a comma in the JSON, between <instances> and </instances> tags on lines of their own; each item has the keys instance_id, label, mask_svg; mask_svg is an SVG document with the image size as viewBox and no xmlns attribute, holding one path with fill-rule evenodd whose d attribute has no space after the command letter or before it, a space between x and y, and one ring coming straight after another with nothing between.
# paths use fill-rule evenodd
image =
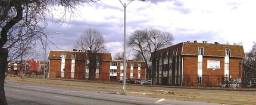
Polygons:
<instances>
[{"instance_id":1,"label":"brick apartment building farther back, left of the one with the banner","mask_svg":"<svg viewBox=\"0 0 256 105\"><path fill-rule=\"evenodd\" d=\"M68 78L86 80L89 78L89 60L85 51L50 51L49 78ZM117 81L123 78L123 63L113 61L110 53L98 53L99 61L95 72L95 80ZM127 61L127 77L145 79L144 62Z\"/></svg>"}]
</instances>

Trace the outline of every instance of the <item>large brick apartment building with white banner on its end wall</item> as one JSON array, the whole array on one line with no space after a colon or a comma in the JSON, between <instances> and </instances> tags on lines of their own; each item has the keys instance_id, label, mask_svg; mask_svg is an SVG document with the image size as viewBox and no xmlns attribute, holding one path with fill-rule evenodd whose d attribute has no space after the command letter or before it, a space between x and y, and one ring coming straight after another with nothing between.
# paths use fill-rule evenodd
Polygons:
<instances>
[{"instance_id":1,"label":"large brick apartment building with white banner on its end wall","mask_svg":"<svg viewBox=\"0 0 256 105\"><path fill-rule=\"evenodd\" d=\"M242 86L241 45L181 42L157 51L156 83L171 86L216 86L237 81Z\"/></svg>"}]
</instances>

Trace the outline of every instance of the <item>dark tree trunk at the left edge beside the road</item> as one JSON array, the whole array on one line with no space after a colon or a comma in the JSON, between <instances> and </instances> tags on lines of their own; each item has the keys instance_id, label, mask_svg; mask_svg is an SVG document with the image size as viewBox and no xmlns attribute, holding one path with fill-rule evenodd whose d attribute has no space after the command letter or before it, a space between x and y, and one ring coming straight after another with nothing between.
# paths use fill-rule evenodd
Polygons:
<instances>
[{"instance_id":1,"label":"dark tree trunk at the left edge beside the road","mask_svg":"<svg viewBox=\"0 0 256 105\"><path fill-rule=\"evenodd\" d=\"M4 92L4 80L5 80L5 71L7 68L7 57L8 51L6 48L0 48L0 104L7 104L7 100Z\"/></svg>"}]
</instances>

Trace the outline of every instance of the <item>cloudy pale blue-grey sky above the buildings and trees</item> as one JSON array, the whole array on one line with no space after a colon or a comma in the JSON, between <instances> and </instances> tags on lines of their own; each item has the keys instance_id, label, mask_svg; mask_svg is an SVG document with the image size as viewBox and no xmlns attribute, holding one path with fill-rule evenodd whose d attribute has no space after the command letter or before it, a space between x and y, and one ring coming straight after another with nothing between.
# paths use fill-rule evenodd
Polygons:
<instances>
[{"instance_id":1,"label":"cloudy pale blue-grey sky above the buildings and trees","mask_svg":"<svg viewBox=\"0 0 256 105\"><path fill-rule=\"evenodd\" d=\"M103 35L112 56L123 52L124 7L121 2L101 0L79 6L79 15L61 23L49 19L46 28L52 32L49 41L58 48L53 44L48 48L72 51L82 32L95 28ZM255 4L255 0L135 0L126 8L126 39L136 29L157 28L173 34L173 45L186 41L240 43L248 52L256 40ZM56 18L60 14L55 11ZM126 54L132 57L129 51L127 48Z\"/></svg>"}]
</instances>

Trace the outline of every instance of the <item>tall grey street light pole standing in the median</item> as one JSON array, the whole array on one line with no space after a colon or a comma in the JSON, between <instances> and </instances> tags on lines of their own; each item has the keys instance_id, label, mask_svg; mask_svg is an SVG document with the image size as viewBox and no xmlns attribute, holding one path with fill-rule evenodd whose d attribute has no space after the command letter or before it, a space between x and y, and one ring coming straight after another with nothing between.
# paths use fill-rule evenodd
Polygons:
<instances>
[{"instance_id":1,"label":"tall grey street light pole standing in the median","mask_svg":"<svg viewBox=\"0 0 256 105\"><path fill-rule=\"evenodd\" d=\"M119 0L121 2L121 0ZM135 1L135 0L132 0ZM132 2L130 1L130 2ZM145 1L145 0L140 0L140 1ZM123 94L126 94L126 7L130 4L130 2L126 5L126 3L123 4L123 2L121 2L121 4L124 7L124 55L123 55L123 59L124 59L124 64L123 64L123 70L124 70L124 74L123 74Z\"/></svg>"}]
</instances>

